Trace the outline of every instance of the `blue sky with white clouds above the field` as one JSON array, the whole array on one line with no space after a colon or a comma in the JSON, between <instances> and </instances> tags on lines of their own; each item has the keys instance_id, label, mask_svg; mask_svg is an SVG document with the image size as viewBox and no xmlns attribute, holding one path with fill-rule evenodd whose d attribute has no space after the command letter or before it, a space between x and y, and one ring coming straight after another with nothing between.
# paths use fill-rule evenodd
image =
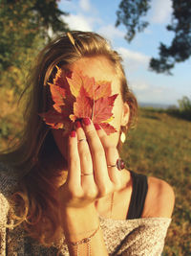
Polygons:
<instances>
[{"instance_id":1,"label":"blue sky with white clouds above the field","mask_svg":"<svg viewBox=\"0 0 191 256\"><path fill-rule=\"evenodd\" d=\"M115 27L119 0L60 0L59 8L69 12L63 19L70 29L103 35L123 58L128 84L139 104L178 105L183 96L191 97L191 58L178 63L173 76L149 71L150 58L158 58L159 42L170 45L172 32L165 29L171 21L171 0L152 0L144 17L150 25L131 43L123 25Z\"/></svg>"}]
</instances>

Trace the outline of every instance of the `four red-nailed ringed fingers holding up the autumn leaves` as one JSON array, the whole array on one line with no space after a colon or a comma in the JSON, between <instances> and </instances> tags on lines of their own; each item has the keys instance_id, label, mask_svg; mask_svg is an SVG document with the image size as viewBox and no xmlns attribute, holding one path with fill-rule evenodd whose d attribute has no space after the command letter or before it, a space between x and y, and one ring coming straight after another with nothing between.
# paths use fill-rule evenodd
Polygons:
<instances>
[{"instance_id":1,"label":"four red-nailed ringed fingers holding up the autumn leaves","mask_svg":"<svg viewBox=\"0 0 191 256\"><path fill-rule=\"evenodd\" d=\"M119 172L115 165L118 152L112 146L105 131L94 126L90 119L76 122L76 134L69 138L69 183L83 192L104 196L119 184ZM74 131L73 131L74 132ZM83 174L93 175L83 175Z\"/></svg>"}]
</instances>

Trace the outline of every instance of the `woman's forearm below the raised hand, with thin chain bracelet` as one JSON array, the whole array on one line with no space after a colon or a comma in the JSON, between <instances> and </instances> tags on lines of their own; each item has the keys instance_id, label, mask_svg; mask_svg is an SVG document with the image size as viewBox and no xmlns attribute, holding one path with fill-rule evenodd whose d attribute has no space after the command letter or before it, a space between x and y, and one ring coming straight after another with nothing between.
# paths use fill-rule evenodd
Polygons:
<instances>
[{"instance_id":1,"label":"woman's forearm below the raised hand, with thin chain bracelet","mask_svg":"<svg viewBox=\"0 0 191 256\"><path fill-rule=\"evenodd\" d=\"M90 255L90 250L93 256L108 255L100 227L89 243L71 244L71 242L75 243L90 237L99 226L99 219L94 205L82 209L65 209L62 212L62 226L71 256L76 256L76 251L80 256Z\"/></svg>"}]
</instances>

